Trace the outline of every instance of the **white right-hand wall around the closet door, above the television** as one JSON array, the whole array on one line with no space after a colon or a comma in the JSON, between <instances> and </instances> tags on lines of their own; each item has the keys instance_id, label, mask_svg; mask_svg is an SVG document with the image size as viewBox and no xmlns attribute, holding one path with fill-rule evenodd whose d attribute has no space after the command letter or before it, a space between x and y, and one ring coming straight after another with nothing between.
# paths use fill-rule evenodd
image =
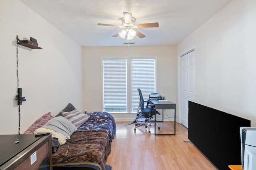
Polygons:
<instances>
[{"instance_id":1,"label":"white right-hand wall around the closet door, above the television","mask_svg":"<svg viewBox=\"0 0 256 170\"><path fill-rule=\"evenodd\" d=\"M256 127L255 18L255 0L233 0L177 46L178 55L193 46L196 48L196 102L250 119L253 127Z\"/></svg>"}]
</instances>

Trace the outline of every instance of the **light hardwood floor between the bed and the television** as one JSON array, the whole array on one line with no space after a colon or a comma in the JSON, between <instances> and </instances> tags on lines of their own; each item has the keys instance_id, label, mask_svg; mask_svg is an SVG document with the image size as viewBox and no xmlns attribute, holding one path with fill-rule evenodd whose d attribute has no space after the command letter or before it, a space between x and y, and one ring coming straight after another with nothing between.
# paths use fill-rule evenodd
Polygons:
<instances>
[{"instance_id":1,"label":"light hardwood floor between the bed and the television","mask_svg":"<svg viewBox=\"0 0 256 170\"><path fill-rule=\"evenodd\" d=\"M148 134L145 126L134 132L135 124L128 123L131 122L116 122L116 136L106 161L112 170L216 170L188 142L188 129L183 125L176 123L175 136L155 136L153 126Z\"/></svg>"}]
</instances>

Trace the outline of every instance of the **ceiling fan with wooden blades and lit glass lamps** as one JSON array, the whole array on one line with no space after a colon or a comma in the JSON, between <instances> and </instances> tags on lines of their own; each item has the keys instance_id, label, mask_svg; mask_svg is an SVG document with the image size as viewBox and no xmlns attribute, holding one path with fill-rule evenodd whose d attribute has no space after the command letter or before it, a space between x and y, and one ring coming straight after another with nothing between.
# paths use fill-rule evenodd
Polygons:
<instances>
[{"instance_id":1,"label":"ceiling fan with wooden blades and lit glass lamps","mask_svg":"<svg viewBox=\"0 0 256 170\"><path fill-rule=\"evenodd\" d=\"M142 24L135 25L134 23L136 19L132 17L131 13L128 13L128 12L124 12L124 17L121 20L122 20L122 25L112 25L112 24L105 24L105 23L98 23L98 25L123 28L112 37L117 37L119 35L120 37L126 38L127 40L133 39L136 35L140 38L146 37L144 34L138 31L137 28L159 27L158 22L142 23Z\"/></svg>"}]
</instances>

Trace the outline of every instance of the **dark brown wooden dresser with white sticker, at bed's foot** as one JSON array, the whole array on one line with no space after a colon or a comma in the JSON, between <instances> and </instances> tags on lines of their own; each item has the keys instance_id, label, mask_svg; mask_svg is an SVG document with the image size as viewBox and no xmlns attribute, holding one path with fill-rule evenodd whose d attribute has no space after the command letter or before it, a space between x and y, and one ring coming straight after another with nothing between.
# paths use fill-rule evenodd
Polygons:
<instances>
[{"instance_id":1,"label":"dark brown wooden dresser with white sticker, at bed's foot","mask_svg":"<svg viewBox=\"0 0 256 170\"><path fill-rule=\"evenodd\" d=\"M0 170L52 170L52 135L0 135Z\"/></svg>"}]
</instances>

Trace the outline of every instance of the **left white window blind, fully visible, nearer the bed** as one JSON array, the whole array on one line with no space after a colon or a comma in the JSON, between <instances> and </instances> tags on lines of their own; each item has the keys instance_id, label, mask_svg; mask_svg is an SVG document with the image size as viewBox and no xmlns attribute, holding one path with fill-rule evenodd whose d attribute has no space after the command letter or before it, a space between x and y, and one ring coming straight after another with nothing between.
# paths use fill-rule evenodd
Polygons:
<instances>
[{"instance_id":1,"label":"left white window blind, fully visible, nearer the bed","mask_svg":"<svg viewBox=\"0 0 256 170\"><path fill-rule=\"evenodd\" d=\"M127 112L127 60L103 59L103 106L108 112Z\"/></svg>"}]
</instances>

